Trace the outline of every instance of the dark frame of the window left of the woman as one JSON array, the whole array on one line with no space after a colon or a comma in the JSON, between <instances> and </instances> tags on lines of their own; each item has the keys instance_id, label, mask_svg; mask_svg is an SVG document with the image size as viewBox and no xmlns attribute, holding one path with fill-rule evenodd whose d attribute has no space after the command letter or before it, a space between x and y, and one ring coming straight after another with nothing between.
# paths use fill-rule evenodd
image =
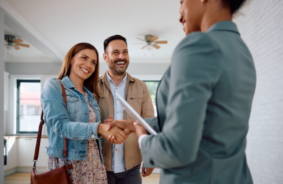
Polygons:
<instances>
[{"instance_id":1,"label":"dark frame of the window left of the woman","mask_svg":"<svg viewBox=\"0 0 283 184\"><path fill-rule=\"evenodd\" d=\"M16 133L17 134L37 134L38 131L36 132L27 132L27 131L20 131L20 84L21 82L26 82L26 83L40 83L40 80L37 80L37 79L17 79L16 80L17 82L17 113L16 113ZM39 122L39 119L38 119L38 122Z\"/></svg>"}]
</instances>

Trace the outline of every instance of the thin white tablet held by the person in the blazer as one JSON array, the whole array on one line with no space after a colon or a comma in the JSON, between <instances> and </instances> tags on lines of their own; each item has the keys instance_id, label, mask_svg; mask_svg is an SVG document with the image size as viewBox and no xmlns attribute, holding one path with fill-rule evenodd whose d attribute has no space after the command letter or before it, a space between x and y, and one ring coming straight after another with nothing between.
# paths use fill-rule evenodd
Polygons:
<instances>
[{"instance_id":1,"label":"thin white tablet held by the person in the blazer","mask_svg":"<svg viewBox=\"0 0 283 184\"><path fill-rule=\"evenodd\" d=\"M119 94L116 93L116 97L120 101L124 110L128 112L128 114L141 126L144 127L150 134L157 135L155 130L141 117L131 106L130 104Z\"/></svg>"}]
</instances>

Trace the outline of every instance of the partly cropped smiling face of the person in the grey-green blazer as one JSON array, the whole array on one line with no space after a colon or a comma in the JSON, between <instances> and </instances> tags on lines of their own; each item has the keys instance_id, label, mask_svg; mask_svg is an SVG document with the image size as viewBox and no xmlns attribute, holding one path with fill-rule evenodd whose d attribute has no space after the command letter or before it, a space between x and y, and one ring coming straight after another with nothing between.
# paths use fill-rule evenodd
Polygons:
<instances>
[{"instance_id":1,"label":"partly cropped smiling face of the person in the grey-green blazer","mask_svg":"<svg viewBox=\"0 0 283 184\"><path fill-rule=\"evenodd\" d=\"M203 0L204 1L204 0ZM201 0L181 0L180 23L186 35L191 32L200 31L204 6Z\"/></svg>"}]
</instances>

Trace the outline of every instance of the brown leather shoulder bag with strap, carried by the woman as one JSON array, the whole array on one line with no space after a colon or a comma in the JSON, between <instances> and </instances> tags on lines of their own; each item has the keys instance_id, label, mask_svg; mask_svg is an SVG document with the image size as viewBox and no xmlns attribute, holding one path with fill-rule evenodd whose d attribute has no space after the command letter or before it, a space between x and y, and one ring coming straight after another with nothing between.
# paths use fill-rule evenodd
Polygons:
<instances>
[{"instance_id":1,"label":"brown leather shoulder bag with strap, carried by the woman","mask_svg":"<svg viewBox=\"0 0 283 184\"><path fill-rule=\"evenodd\" d=\"M60 82L60 81L59 81ZM61 82L60 82L61 83ZM63 92L63 98L64 102L67 108L67 100L66 100L66 91L61 83L62 86L62 92ZM39 129L37 134L37 140L36 140L36 146L35 146L35 152L34 152L34 164L33 168L31 169L30 173L30 184L54 184L54 183L60 183L60 184L71 184L72 181L70 179L68 169L73 169L73 165L67 165L66 159L65 159L65 165L44 173L37 174L36 171L36 161L38 159L38 153L39 153L39 146L40 146L40 139L41 139L41 132L42 132L42 126L44 125L44 119L43 119L43 111L41 112L40 117L40 123L39 123ZM64 157L67 157L67 139L64 139Z\"/></svg>"}]
</instances>

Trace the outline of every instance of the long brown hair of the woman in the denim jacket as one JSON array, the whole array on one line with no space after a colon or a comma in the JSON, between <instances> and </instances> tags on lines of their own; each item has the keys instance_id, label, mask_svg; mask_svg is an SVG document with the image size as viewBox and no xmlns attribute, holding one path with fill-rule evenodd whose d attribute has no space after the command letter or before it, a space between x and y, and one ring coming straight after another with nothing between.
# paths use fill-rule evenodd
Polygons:
<instances>
[{"instance_id":1,"label":"long brown hair of the woman in the denim jacket","mask_svg":"<svg viewBox=\"0 0 283 184\"><path fill-rule=\"evenodd\" d=\"M61 71L59 76L57 77L57 79L62 80L65 76L69 76L70 75L70 71L71 71L71 60L72 58L81 50L84 49L91 49L94 50L97 53L98 56L98 51L96 49L95 46L89 44L89 43L78 43L75 44L67 53L67 55L65 56L64 60L63 60L63 64L61 67ZM97 99L100 98L99 96L99 92L98 92L98 78L99 78L99 56L98 56L98 60L97 60L97 65L96 65L96 69L95 72L93 72L91 74L91 76L89 78L87 78L86 80L84 80L83 85L91 92L91 93L95 93L95 96Z\"/></svg>"}]
</instances>

